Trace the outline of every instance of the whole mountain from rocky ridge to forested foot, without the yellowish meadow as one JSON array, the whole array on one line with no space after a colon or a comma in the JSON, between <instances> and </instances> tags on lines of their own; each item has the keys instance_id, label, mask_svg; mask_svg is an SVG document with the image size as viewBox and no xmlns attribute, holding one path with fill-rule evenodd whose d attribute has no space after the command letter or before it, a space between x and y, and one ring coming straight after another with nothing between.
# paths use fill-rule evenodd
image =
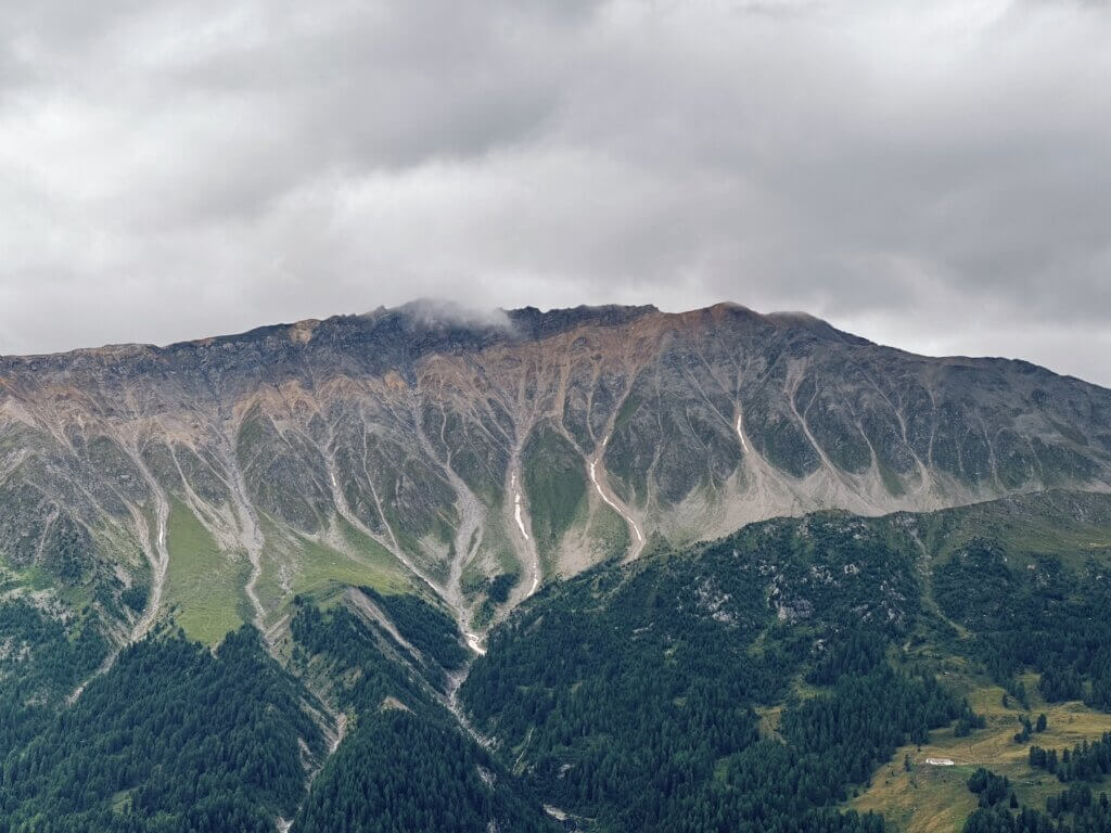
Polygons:
<instances>
[{"instance_id":1,"label":"whole mountain from rocky ridge to forested foot, without the yellowish meadow","mask_svg":"<svg viewBox=\"0 0 1111 833\"><path fill-rule=\"evenodd\" d=\"M1103 725L1107 493L1111 391L732 304L0 357L0 833L879 830L979 693Z\"/></svg>"}]
</instances>

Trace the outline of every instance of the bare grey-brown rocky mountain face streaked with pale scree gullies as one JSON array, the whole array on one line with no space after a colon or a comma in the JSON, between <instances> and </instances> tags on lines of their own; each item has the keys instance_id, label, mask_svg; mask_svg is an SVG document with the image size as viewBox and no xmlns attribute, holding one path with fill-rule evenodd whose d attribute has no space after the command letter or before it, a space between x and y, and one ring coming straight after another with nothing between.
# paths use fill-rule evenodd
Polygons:
<instances>
[{"instance_id":1,"label":"bare grey-brown rocky mountain face streaked with pale scree gullies","mask_svg":"<svg viewBox=\"0 0 1111 833\"><path fill-rule=\"evenodd\" d=\"M410 589L484 630L556 575L774 515L1111 491L1111 391L720 304L430 304L0 358L0 583L118 644L277 639Z\"/></svg>"}]
</instances>

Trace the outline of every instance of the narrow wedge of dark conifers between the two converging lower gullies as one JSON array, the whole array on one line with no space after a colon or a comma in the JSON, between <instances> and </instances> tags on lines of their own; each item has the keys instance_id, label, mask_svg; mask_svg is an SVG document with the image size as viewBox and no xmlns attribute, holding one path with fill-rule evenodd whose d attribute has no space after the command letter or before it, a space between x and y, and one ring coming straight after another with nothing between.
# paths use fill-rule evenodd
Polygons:
<instances>
[{"instance_id":1,"label":"narrow wedge of dark conifers between the two converging lower gullies","mask_svg":"<svg viewBox=\"0 0 1111 833\"><path fill-rule=\"evenodd\" d=\"M460 730L344 608L299 610L297 664L327 663L354 731L312 784L302 833L550 830L539 801Z\"/></svg>"}]
</instances>

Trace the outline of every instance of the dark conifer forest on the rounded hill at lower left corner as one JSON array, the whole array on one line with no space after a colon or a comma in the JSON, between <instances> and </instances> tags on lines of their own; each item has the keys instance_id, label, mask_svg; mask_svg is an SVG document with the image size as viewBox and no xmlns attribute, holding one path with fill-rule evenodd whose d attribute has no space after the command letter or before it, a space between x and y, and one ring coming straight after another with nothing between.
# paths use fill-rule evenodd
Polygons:
<instances>
[{"instance_id":1,"label":"dark conifer forest on the rounded hill at lower left corner","mask_svg":"<svg viewBox=\"0 0 1111 833\"><path fill-rule=\"evenodd\" d=\"M298 739L322 752L306 696L253 629L216 655L148 638L8 755L0 831L271 831L303 794Z\"/></svg>"}]
</instances>

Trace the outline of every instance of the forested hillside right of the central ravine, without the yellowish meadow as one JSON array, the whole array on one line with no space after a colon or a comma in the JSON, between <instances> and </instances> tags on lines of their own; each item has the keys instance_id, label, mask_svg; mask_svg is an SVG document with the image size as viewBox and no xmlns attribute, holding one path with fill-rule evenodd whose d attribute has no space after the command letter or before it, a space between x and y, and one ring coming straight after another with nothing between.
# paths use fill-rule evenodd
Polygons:
<instances>
[{"instance_id":1,"label":"forested hillside right of the central ravine, without the yellowish meadow","mask_svg":"<svg viewBox=\"0 0 1111 833\"><path fill-rule=\"evenodd\" d=\"M1035 697L1108 709L1109 506L818 514L599 568L497 631L462 701L587 827L898 830L850 809L883 766L929 769L942 737L1029 745Z\"/></svg>"}]
</instances>

